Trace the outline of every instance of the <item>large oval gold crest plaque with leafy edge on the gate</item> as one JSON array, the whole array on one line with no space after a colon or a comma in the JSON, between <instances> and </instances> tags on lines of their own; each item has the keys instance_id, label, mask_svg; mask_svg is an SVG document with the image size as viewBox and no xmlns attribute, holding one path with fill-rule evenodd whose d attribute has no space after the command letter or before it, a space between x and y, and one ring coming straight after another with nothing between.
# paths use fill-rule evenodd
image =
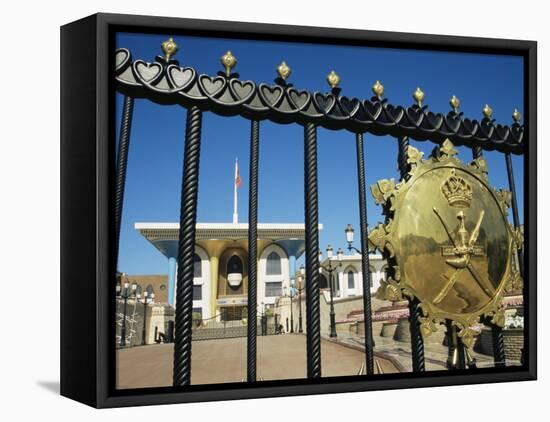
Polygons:
<instances>
[{"instance_id":1,"label":"large oval gold crest plaque with leafy edge on the gate","mask_svg":"<svg viewBox=\"0 0 550 422\"><path fill-rule=\"evenodd\" d=\"M520 284L512 259L518 235L507 219L509 192L491 187L485 160L465 164L457 154L450 140L426 160L409 147L408 180L371 186L386 223L369 241L390 266L377 296L416 297L424 336L451 320L470 346L480 321L504 323L504 292Z\"/></svg>"}]
</instances>

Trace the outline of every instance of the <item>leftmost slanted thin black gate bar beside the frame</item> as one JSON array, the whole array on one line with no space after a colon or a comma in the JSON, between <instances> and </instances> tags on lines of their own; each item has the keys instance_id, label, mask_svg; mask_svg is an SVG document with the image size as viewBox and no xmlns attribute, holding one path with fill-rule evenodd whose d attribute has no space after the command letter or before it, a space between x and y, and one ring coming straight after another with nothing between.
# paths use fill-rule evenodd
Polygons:
<instances>
[{"instance_id":1,"label":"leftmost slanted thin black gate bar beside the frame","mask_svg":"<svg viewBox=\"0 0 550 422\"><path fill-rule=\"evenodd\" d=\"M130 149L130 132L132 129L133 114L134 98L126 96L124 97L122 119L120 122L115 181L115 245L113 256L117 262L120 243L120 226L122 222L122 206L124 202L124 187L126 186L126 167L128 164L128 150Z\"/></svg>"}]
</instances>

